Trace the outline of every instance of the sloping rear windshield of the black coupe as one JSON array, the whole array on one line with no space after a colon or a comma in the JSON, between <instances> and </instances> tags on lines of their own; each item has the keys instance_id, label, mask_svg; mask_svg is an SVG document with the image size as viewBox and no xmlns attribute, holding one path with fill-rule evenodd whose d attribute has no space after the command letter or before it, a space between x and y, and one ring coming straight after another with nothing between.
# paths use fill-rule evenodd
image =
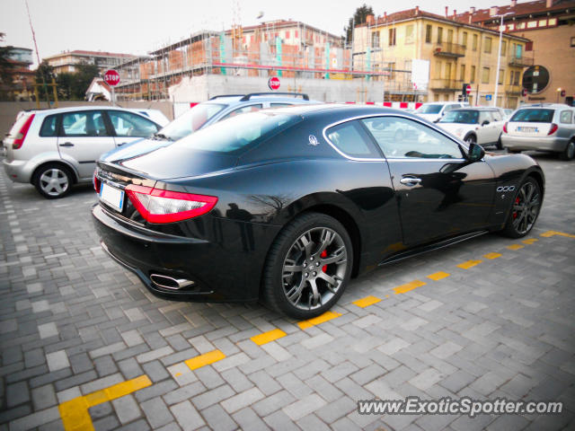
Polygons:
<instances>
[{"instance_id":1,"label":"sloping rear windshield of the black coupe","mask_svg":"<svg viewBox=\"0 0 575 431\"><path fill-rule=\"evenodd\" d=\"M252 112L220 121L182 138L173 145L194 150L239 154L301 120L298 116L273 111Z\"/></svg>"}]
</instances>

